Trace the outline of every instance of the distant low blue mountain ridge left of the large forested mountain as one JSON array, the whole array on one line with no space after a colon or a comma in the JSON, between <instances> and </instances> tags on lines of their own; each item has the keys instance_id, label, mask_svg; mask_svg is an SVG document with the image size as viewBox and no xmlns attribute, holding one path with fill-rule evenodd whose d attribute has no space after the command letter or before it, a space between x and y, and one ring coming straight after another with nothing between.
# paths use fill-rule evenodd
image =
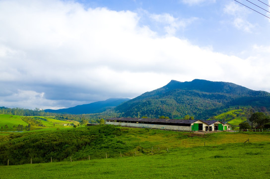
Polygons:
<instances>
[{"instance_id":1,"label":"distant low blue mountain ridge left of the large forested mountain","mask_svg":"<svg viewBox=\"0 0 270 179\"><path fill-rule=\"evenodd\" d=\"M125 101L130 100L130 98L110 98L104 101L92 102L90 104L77 105L75 107L69 107L65 109L45 109L45 112L53 112L60 114L90 114L103 112L109 108L113 108Z\"/></svg>"}]
</instances>

